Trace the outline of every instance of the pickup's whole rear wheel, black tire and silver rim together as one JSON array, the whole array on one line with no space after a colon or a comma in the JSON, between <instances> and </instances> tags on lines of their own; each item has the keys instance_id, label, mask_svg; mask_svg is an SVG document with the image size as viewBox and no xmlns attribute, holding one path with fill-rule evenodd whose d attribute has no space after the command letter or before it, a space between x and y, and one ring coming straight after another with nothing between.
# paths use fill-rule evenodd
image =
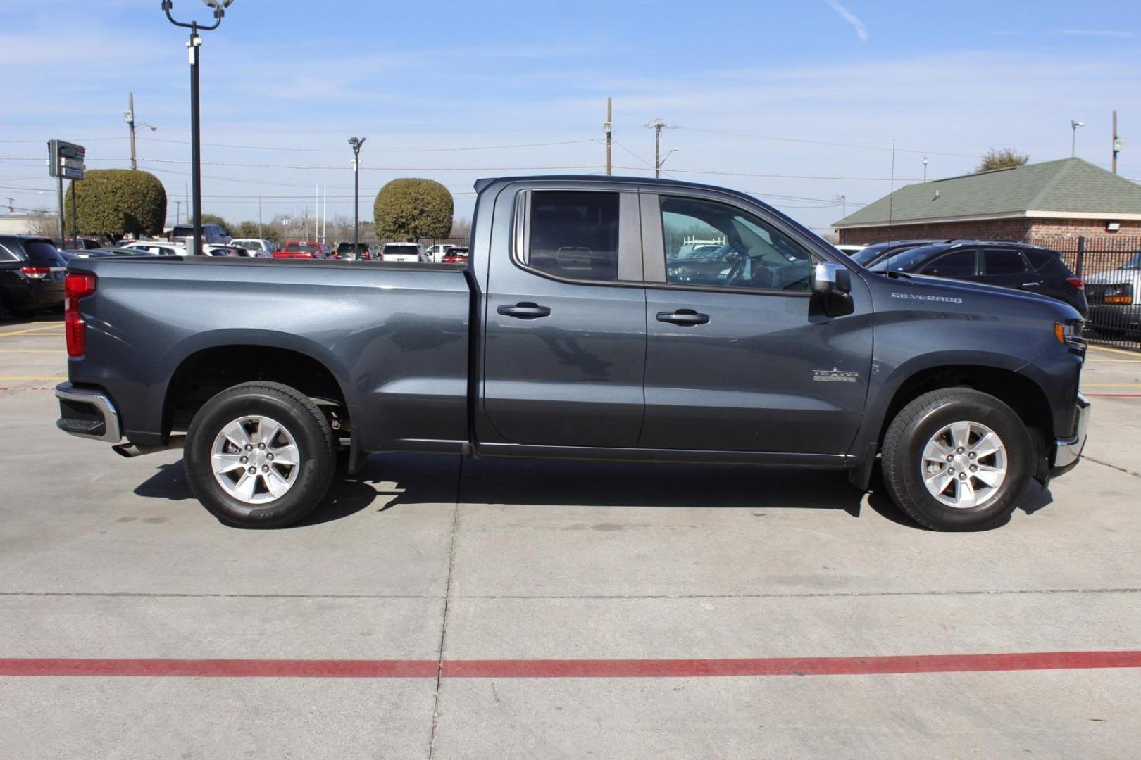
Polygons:
<instances>
[{"instance_id":1,"label":"pickup's whole rear wheel, black tire and silver rim together","mask_svg":"<svg viewBox=\"0 0 1141 760\"><path fill-rule=\"evenodd\" d=\"M283 528L324 498L337 466L337 440L302 393L281 383L243 383L194 416L184 458L194 496L220 521Z\"/></svg>"}]
</instances>

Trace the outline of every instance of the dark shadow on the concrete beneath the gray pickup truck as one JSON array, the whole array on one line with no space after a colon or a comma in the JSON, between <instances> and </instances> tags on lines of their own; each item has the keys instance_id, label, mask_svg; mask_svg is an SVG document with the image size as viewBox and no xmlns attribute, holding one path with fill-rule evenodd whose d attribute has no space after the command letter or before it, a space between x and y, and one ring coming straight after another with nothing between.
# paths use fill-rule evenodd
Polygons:
<instances>
[{"instance_id":1,"label":"dark shadow on the concrete beneath the gray pickup truck","mask_svg":"<svg viewBox=\"0 0 1141 760\"><path fill-rule=\"evenodd\" d=\"M474 459L455 456L375 455L361 473L338 473L324 502L293 528L429 504L582 507L835 509L859 517L866 504L892 523L923 530L883 492L867 495L843 472L719 465ZM193 500L181 460L162 465L135 493ZM1033 514L1052 500L1031 484L1019 508Z\"/></svg>"}]
</instances>

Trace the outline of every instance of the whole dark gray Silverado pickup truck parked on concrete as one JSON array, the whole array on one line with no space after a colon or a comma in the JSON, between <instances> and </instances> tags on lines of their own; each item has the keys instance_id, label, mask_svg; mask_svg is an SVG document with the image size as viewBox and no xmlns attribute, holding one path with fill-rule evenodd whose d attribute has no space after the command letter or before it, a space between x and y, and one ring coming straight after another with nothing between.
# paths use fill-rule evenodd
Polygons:
<instances>
[{"instance_id":1,"label":"whole dark gray Silverado pickup truck parked on concrete","mask_svg":"<svg viewBox=\"0 0 1141 760\"><path fill-rule=\"evenodd\" d=\"M879 275L731 190L482 180L467 265L72 262L58 426L179 447L221 521L307 515L372 452L844 469L932 529L1074 467L1082 320ZM705 242L702 246L688 240ZM126 438L126 442L122 439Z\"/></svg>"}]
</instances>

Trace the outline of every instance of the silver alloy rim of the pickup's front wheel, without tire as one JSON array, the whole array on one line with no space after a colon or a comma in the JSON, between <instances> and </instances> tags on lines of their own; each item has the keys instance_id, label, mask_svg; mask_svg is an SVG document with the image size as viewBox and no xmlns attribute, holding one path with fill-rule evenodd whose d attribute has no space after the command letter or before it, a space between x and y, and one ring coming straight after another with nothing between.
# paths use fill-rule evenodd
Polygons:
<instances>
[{"instance_id":1,"label":"silver alloy rim of the pickup's front wheel, without tire","mask_svg":"<svg viewBox=\"0 0 1141 760\"><path fill-rule=\"evenodd\" d=\"M1005 444L979 423L952 423L923 449L923 483L931 496L956 509L990 501L1006 480L1006 471Z\"/></svg>"}]
</instances>

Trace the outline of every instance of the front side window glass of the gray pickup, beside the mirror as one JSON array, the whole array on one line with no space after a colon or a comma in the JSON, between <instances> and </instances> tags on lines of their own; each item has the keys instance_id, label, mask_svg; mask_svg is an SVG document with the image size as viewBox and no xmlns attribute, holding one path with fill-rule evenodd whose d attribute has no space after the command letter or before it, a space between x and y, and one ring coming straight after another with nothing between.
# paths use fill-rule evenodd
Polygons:
<instances>
[{"instance_id":1,"label":"front side window glass of the gray pickup, beside the mirror","mask_svg":"<svg viewBox=\"0 0 1141 760\"><path fill-rule=\"evenodd\" d=\"M663 196L661 206L666 283L811 289L811 255L758 216L699 198Z\"/></svg>"}]
</instances>

